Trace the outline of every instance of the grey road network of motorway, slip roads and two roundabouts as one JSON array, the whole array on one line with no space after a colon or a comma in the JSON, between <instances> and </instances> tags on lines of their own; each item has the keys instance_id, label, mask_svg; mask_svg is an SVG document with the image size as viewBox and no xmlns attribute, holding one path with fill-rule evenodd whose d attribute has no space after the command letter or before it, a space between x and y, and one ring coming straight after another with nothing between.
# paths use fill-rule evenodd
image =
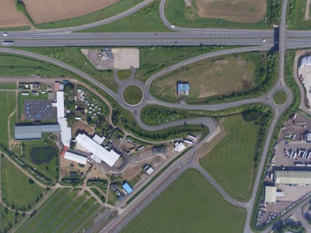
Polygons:
<instances>
[{"instance_id":1,"label":"grey road network of motorway, slip roads and two roundabouts","mask_svg":"<svg viewBox=\"0 0 311 233\"><path fill-rule=\"evenodd\" d=\"M174 30L171 33L73 33L73 31L78 31L86 28L92 28L94 26L100 26L105 23L110 23L117 19L127 16L130 13L141 9L143 6L146 6L152 2L152 0L143 1L141 4L133 7L132 9L107 18L103 21L98 21L95 23L90 23L85 26L77 26L72 28L60 28L52 30L38 30L38 31L12 31L8 32L9 36L0 36L2 40L14 40L14 46L87 46L87 45L243 45L242 48L233 48L228 50L221 50L214 53L208 53L205 55L198 56L196 58L190 58L181 63L172 65L167 69L164 69L147 80L144 84L139 80L131 78L125 82L118 82L120 85L117 94L109 90L105 85L97 80L94 80L93 77L86 75L84 72L81 72L70 65L62 63L58 60L48 58L43 55L38 55L36 53L14 50L13 48L0 48L0 53L12 53L16 55L25 55L30 58L35 58L38 60L43 60L53 65L58 65L65 69L74 72L77 75L85 78L89 82L92 82L93 85L100 87L102 90L110 94L114 99L121 104L122 107L132 112L135 116L137 124L143 129L148 131L157 131L159 129L165 129L171 126L179 126L184 124L204 124L209 127L209 134L199 143L194 145L190 151L181 156L172 166L170 166L165 172L155 180L147 190L144 190L133 202L128 205L125 210L122 210L120 214L112 220L108 226L103 229L103 232L119 232L120 229L123 229L131 220L133 220L140 212L144 210L158 195L160 195L169 185L174 183L174 180L179 178L184 171L189 168L194 168L199 170L199 172L204 175L204 177L209 180L209 182L214 185L214 188L223 196L225 200L231 202L231 204L238 207L243 207L247 210L247 219L244 228L244 232L251 232L250 220L251 214L253 211L255 196L260 185L260 175L265 166L265 158L268 154L268 148L270 145L270 139L272 139L273 131L278 119L285 112L291 102L292 102L292 93L286 87L284 81L284 64L285 64L285 51L292 48L307 48L311 47L311 31L287 31L286 25L286 9L288 6L288 0L283 0L282 7L282 17L280 27L275 31L273 30L244 30L244 29L218 29L218 28L179 28L174 26L172 28L171 23L167 21L167 18L164 15L164 4L165 0L161 1L160 4L160 16L164 24ZM265 40L265 41L263 41ZM252 46L252 47L246 47ZM172 104L167 102L159 101L158 99L152 97L149 94L149 86L151 83L156 80L158 77L176 70L177 68L194 63L198 60L204 60L206 58L214 58L220 55L234 54L234 53L248 53L251 51L264 51L264 50L273 50L278 48L279 50L279 70L278 70L278 80L275 83L270 92L263 94L260 97L255 97L253 99L243 99L237 102L226 102L222 104L212 104L212 105L189 105L189 104ZM134 77L134 75L132 75ZM142 101L135 105L127 104L123 97L122 91L128 85L137 85L143 91ZM273 102L273 94L278 90L284 90L288 94L288 101L283 105L277 105ZM196 118L196 119L186 119L182 121L173 121L167 122L166 124L161 124L158 126L147 126L142 123L140 119L141 109L147 104L159 104L166 107L178 108L178 109L207 109L207 110L219 110L226 109L230 107L240 106L242 104L251 104L251 103L264 103L272 107L274 112L274 117L270 130L268 131L268 136L265 142L263 149L263 156L261 158L258 175L256 175L255 184L253 188L253 194L251 200L248 202L239 202L234 200L228 193L226 193L216 180L211 178L211 175L207 173L201 166L194 162L194 155L196 150L203 144L205 141L210 141L216 134L218 130L218 124L213 119L208 117ZM191 160L185 162L185 158L191 157ZM156 190L155 192L152 192ZM109 210L108 213L118 210L118 208L125 205L125 202L128 198L120 202L115 209ZM103 215L100 220L95 222L91 229L96 229L100 225L100 221L105 220L107 213ZM90 231L88 231L90 232Z\"/></svg>"}]
</instances>

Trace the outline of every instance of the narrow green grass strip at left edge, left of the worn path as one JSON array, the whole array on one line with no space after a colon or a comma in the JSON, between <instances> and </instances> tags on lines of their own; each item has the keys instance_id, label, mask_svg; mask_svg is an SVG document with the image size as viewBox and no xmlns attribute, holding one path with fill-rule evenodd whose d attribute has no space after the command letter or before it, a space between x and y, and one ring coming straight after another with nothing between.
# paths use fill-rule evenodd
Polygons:
<instances>
[{"instance_id":1,"label":"narrow green grass strip at left edge, left of the worn path","mask_svg":"<svg viewBox=\"0 0 311 233\"><path fill-rule=\"evenodd\" d=\"M15 92L0 92L0 144L4 147L9 146L9 136L8 136L8 119L9 115L15 109ZM15 120L13 119L15 122ZM11 126L11 123L10 123ZM11 135L14 136L14 135Z\"/></svg>"}]
</instances>

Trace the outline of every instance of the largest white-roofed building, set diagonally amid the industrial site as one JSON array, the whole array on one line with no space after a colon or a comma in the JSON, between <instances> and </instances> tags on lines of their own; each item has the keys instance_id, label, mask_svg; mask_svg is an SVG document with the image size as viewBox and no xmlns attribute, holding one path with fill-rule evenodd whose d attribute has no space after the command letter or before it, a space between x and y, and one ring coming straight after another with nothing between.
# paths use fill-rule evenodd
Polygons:
<instances>
[{"instance_id":1,"label":"largest white-roofed building, set diagonally amid the industrial site","mask_svg":"<svg viewBox=\"0 0 311 233\"><path fill-rule=\"evenodd\" d=\"M85 149L90 151L90 153L93 153L93 155L100 158L100 160L104 161L111 167L120 157L119 154L117 154L115 151L107 151L105 148L100 146L100 144L98 144L93 139L90 139L90 137L86 136L85 134L78 134L75 140ZM93 157L93 159L94 158L95 157ZM96 159L94 160L96 161Z\"/></svg>"}]
</instances>

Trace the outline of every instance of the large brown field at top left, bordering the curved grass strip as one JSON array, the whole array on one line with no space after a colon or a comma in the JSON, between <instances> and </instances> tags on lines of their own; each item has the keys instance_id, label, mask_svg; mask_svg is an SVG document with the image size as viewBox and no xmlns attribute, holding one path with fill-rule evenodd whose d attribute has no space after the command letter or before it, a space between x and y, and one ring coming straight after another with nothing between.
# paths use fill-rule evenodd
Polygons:
<instances>
[{"instance_id":1,"label":"large brown field at top left, bordering the curved grass strip","mask_svg":"<svg viewBox=\"0 0 311 233\"><path fill-rule=\"evenodd\" d=\"M9 0L1 0L9 1ZM12 2L14 0L11 0ZM23 0L36 24L84 16L115 4L118 0ZM0 5L1 6L1 5Z\"/></svg>"}]
</instances>

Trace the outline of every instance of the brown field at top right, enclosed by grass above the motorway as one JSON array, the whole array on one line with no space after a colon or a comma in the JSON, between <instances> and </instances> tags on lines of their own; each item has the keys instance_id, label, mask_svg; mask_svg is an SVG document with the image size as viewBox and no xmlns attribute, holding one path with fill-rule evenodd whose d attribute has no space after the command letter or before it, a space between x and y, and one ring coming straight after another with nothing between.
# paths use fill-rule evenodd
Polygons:
<instances>
[{"instance_id":1,"label":"brown field at top right, enclosed by grass above the motorway","mask_svg":"<svg viewBox=\"0 0 311 233\"><path fill-rule=\"evenodd\" d=\"M201 17L236 23L258 23L267 9L265 0L196 0L196 6Z\"/></svg>"}]
</instances>

